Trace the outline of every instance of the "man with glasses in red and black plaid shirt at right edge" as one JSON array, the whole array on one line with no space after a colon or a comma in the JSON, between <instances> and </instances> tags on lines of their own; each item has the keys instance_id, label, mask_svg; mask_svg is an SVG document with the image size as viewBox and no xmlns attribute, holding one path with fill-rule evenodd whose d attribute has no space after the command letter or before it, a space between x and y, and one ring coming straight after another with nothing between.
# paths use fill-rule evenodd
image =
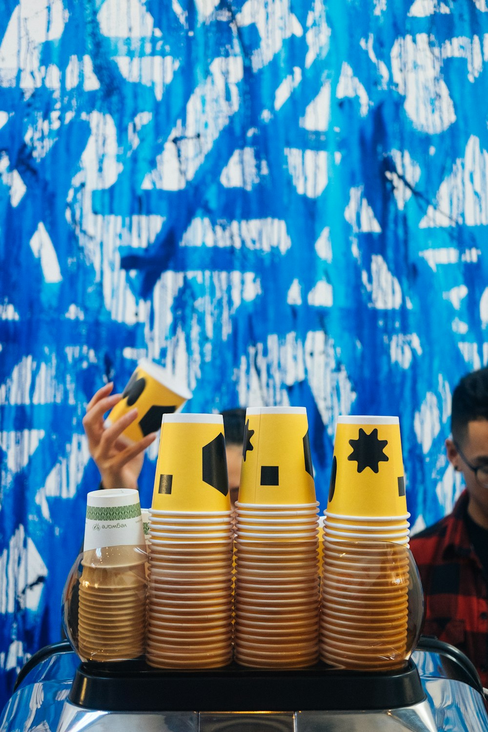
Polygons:
<instances>
[{"instance_id":1,"label":"man with glasses in red and black plaid shirt at right edge","mask_svg":"<svg viewBox=\"0 0 488 732\"><path fill-rule=\"evenodd\" d=\"M488 687L488 368L454 389L446 453L465 489L449 515L410 539L427 601L423 633L457 646Z\"/></svg>"}]
</instances>

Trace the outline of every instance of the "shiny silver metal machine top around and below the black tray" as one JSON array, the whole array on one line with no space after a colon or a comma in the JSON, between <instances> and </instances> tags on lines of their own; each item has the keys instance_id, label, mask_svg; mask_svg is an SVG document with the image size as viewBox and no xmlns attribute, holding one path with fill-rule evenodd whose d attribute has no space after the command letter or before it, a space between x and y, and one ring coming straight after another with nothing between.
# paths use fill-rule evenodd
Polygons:
<instances>
[{"instance_id":1,"label":"shiny silver metal machine top around and below the black tray","mask_svg":"<svg viewBox=\"0 0 488 732\"><path fill-rule=\"evenodd\" d=\"M413 655L427 699L380 712L160 712L87 711L67 700L78 657L56 654L23 680L1 714L0 732L488 732L481 694L446 678L435 654Z\"/></svg>"}]
</instances>

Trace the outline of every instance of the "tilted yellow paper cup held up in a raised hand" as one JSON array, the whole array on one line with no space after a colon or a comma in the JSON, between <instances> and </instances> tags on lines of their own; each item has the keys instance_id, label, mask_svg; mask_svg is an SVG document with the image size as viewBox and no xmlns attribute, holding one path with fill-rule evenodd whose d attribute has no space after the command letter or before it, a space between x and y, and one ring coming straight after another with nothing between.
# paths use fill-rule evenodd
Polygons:
<instances>
[{"instance_id":1,"label":"tilted yellow paper cup held up in a raised hand","mask_svg":"<svg viewBox=\"0 0 488 732\"><path fill-rule=\"evenodd\" d=\"M149 359L141 359L105 426L110 427L129 410L137 408L138 421L132 422L122 436L129 443L138 442L159 430L163 414L180 411L191 397L187 386L168 370Z\"/></svg>"}]
</instances>

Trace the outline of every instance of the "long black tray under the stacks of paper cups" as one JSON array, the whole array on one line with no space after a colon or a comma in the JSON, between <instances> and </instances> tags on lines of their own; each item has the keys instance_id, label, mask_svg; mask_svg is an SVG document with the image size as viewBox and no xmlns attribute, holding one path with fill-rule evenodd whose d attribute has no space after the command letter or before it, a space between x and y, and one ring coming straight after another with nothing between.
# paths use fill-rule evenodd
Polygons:
<instances>
[{"instance_id":1,"label":"long black tray under the stacks of paper cups","mask_svg":"<svg viewBox=\"0 0 488 732\"><path fill-rule=\"evenodd\" d=\"M322 662L267 671L232 663L204 671L159 671L144 662L82 663L70 701L107 712L289 712L394 709L425 693L412 660L399 671L337 671Z\"/></svg>"}]
</instances>

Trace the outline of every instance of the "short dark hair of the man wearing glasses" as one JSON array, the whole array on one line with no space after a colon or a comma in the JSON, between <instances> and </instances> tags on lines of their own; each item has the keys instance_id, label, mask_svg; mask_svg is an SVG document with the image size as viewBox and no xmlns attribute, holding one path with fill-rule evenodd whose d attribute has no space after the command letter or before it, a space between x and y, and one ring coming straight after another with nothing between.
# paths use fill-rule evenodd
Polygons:
<instances>
[{"instance_id":1,"label":"short dark hair of the man wearing glasses","mask_svg":"<svg viewBox=\"0 0 488 732\"><path fill-rule=\"evenodd\" d=\"M466 436L468 422L488 419L488 368L463 376L452 394L451 433L461 444Z\"/></svg>"}]
</instances>

